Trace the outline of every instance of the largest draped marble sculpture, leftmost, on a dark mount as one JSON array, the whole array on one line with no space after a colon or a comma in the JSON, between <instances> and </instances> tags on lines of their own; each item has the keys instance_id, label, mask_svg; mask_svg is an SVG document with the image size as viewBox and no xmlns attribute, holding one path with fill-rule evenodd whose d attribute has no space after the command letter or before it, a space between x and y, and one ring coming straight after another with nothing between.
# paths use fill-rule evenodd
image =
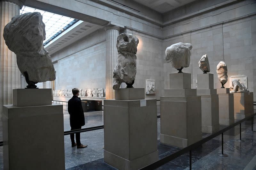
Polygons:
<instances>
[{"instance_id":1,"label":"largest draped marble sculpture, leftmost, on a dark mount","mask_svg":"<svg viewBox=\"0 0 256 170\"><path fill-rule=\"evenodd\" d=\"M55 80L51 56L43 46L45 25L42 18L39 12L28 12L14 16L4 27L5 44L16 54L27 88L36 88L38 82Z\"/></svg>"}]
</instances>

